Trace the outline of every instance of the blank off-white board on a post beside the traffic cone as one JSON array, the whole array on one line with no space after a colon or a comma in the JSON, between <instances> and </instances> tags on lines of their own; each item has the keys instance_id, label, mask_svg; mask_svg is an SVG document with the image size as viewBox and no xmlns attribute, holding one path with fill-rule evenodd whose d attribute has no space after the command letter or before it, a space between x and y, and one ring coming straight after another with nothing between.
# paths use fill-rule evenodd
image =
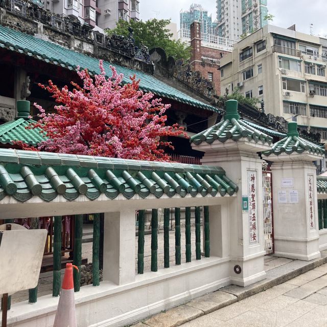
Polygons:
<instances>
[{"instance_id":1,"label":"blank off-white board on a post beside the traffic cone","mask_svg":"<svg viewBox=\"0 0 327 327\"><path fill-rule=\"evenodd\" d=\"M0 231L0 294L37 286L46 229Z\"/></svg>"}]
</instances>

